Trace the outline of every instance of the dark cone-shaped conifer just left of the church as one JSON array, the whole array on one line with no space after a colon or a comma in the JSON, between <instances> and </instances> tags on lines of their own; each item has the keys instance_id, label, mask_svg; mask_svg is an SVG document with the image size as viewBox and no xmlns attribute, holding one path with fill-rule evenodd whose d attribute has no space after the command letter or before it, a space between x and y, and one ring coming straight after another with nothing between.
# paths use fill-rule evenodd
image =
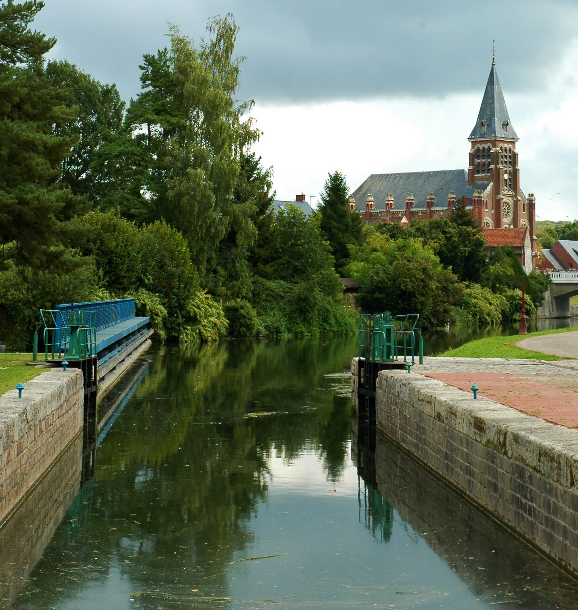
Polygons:
<instances>
[{"instance_id":1,"label":"dark cone-shaped conifer just left of the church","mask_svg":"<svg viewBox=\"0 0 578 610\"><path fill-rule=\"evenodd\" d=\"M319 209L320 228L324 239L331 246L335 270L342 275L349 261L347 247L359 243L362 231L361 217L358 213L349 210L349 187L342 173L336 170L333 174L328 174L321 193L321 201L323 203Z\"/></svg>"}]
</instances>

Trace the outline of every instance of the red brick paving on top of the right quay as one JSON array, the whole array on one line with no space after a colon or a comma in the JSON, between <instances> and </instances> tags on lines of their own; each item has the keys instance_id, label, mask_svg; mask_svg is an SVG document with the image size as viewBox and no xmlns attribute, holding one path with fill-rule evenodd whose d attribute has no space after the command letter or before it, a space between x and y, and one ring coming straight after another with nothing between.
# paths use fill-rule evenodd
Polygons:
<instances>
[{"instance_id":1,"label":"red brick paving on top of the right quay","mask_svg":"<svg viewBox=\"0 0 578 610\"><path fill-rule=\"evenodd\" d=\"M578 393L572 390L548 386L508 373L424 373L470 392L475 384L478 395L491 398L546 422L557 423L568 428L578 427Z\"/></svg>"}]
</instances>

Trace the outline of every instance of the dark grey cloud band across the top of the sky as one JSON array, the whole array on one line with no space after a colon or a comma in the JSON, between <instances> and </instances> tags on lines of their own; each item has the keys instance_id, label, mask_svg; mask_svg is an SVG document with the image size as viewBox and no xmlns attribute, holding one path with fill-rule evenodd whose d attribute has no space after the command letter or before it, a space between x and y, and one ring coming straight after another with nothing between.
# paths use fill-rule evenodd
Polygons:
<instances>
[{"instance_id":1,"label":"dark grey cloud band across the top of the sky","mask_svg":"<svg viewBox=\"0 0 578 610\"><path fill-rule=\"evenodd\" d=\"M493 38L504 90L536 90L578 23L563 0L46 0L35 26L58 38L59 59L129 98L167 21L198 40L227 12L247 57L240 96L260 102L479 92Z\"/></svg>"}]
</instances>

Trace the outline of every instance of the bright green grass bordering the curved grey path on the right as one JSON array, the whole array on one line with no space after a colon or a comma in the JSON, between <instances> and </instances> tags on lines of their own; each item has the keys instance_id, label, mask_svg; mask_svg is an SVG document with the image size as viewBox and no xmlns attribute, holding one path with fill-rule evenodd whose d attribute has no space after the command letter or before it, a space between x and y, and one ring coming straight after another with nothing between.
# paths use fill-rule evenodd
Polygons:
<instances>
[{"instance_id":1,"label":"bright green grass bordering the curved grey path on the right","mask_svg":"<svg viewBox=\"0 0 578 610\"><path fill-rule=\"evenodd\" d=\"M448 350L439 356L461 357L461 358L531 358L537 360L568 360L564 356L552 356L540 351L522 350L516 347L516 343L527 337L539 337L540 335L552 335L558 332L578 331L578 328L558 328L555 331L529 332L526 336L512 335L510 337L487 337L464 343L455 350Z\"/></svg>"}]
</instances>

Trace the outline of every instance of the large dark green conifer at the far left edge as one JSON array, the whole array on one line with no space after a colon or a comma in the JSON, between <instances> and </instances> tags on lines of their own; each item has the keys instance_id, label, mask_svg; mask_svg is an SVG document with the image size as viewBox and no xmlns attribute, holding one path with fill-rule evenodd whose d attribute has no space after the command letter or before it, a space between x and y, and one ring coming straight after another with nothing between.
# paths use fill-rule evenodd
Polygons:
<instances>
[{"instance_id":1,"label":"large dark green conifer at the far left edge","mask_svg":"<svg viewBox=\"0 0 578 610\"><path fill-rule=\"evenodd\" d=\"M15 242L18 261L53 269L71 264L68 221L82 201L59 184L62 160L75 143L60 130L73 121L74 109L42 69L56 40L29 29L43 5L0 7L0 244Z\"/></svg>"}]
</instances>

